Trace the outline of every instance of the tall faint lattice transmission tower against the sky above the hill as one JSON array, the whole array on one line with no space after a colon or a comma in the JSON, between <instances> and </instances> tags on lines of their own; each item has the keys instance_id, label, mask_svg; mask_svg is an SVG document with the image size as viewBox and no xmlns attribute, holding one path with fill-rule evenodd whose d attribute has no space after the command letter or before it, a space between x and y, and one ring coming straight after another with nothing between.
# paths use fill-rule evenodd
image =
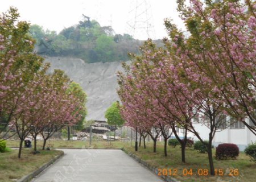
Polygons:
<instances>
[{"instance_id":1,"label":"tall faint lattice transmission tower against the sky above the hill","mask_svg":"<svg viewBox=\"0 0 256 182\"><path fill-rule=\"evenodd\" d=\"M133 0L130 3L127 32L135 39L154 39L155 29L149 0Z\"/></svg>"}]
</instances>

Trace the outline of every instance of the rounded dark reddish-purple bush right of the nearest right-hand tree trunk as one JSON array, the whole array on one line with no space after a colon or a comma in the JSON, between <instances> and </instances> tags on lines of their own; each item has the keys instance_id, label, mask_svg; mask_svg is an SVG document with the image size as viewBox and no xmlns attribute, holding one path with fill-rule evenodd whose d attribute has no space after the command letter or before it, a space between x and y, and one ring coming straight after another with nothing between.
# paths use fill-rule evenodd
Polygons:
<instances>
[{"instance_id":1,"label":"rounded dark reddish-purple bush right of the nearest right-hand tree trunk","mask_svg":"<svg viewBox=\"0 0 256 182\"><path fill-rule=\"evenodd\" d=\"M236 159L239 155L239 148L233 143L222 143L216 148L216 158L217 159Z\"/></svg>"}]
</instances>

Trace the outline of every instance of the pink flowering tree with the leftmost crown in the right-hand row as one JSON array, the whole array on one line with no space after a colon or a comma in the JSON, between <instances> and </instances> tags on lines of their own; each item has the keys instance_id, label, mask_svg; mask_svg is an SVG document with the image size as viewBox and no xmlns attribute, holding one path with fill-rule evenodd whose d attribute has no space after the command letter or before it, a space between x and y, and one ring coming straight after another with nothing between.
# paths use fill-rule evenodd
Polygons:
<instances>
[{"instance_id":1,"label":"pink flowering tree with the leftmost crown in the right-hand row","mask_svg":"<svg viewBox=\"0 0 256 182\"><path fill-rule=\"evenodd\" d=\"M156 141L160 136L159 118L156 119L152 113L152 105L148 102L148 98L144 97L146 95L141 92L142 90L138 89L135 79L131 75L126 76L121 72L118 73L118 95L122 101L121 115L126 120L127 126L150 135L154 141L153 152L156 152Z\"/></svg>"}]
</instances>

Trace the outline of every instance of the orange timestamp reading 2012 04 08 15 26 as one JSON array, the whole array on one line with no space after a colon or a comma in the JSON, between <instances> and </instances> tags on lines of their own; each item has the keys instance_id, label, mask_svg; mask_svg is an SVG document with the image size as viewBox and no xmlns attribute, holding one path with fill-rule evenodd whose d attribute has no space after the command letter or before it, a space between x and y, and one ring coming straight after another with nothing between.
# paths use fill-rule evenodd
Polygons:
<instances>
[{"instance_id":1,"label":"orange timestamp reading 2012 04 08 15 26","mask_svg":"<svg viewBox=\"0 0 256 182\"><path fill-rule=\"evenodd\" d=\"M179 170L177 168L158 168L158 176L208 176L210 175L210 171L208 169L199 168L199 169L191 169L191 168L183 168ZM214 175L216 176L238 176L238 169L214 169Z\"/></svg>"}]
</instances>

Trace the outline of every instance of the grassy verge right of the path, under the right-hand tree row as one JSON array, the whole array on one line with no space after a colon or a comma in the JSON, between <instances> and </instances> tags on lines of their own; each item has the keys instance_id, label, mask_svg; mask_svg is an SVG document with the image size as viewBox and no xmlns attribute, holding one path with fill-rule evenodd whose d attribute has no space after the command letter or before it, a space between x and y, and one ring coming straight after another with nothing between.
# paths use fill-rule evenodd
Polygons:
<instances>
[{"instance_id":1,"label":"grassy verge right of the path, under the right-hand tree row","mask_svg":"<svg viewBox=\"0 0 256 182\"><path fill-rule=\"evenodd\" d=\"M139 147L138 152L134 151L134 147L126 146L126 151L137 155L144 162L150 166L158 168L161 175L169 175L180 181L255 181L256 164L250 162L250 158L243 152L240 153L236 160L216 160L214 159L214 168L217 169L216 176L206 175L203 173L208 170L208 156L207 154L200 154L192 148L186 149L186 163L181 162L180 147L168 147L168 156L164 156L163 144L158 144L157 152L152 152L152 147L148 146L146 149ZM215 150L213 150L215 154ZM191 169L192 175L185 175ZM238 169L238 175L234 169ZM174 176L174 172L176 175ZM184 173L183 173L184 171ZM221 175L223 171L224 175ZM171 172L171 175L170 175ZM199 175L203 173L203 175ZM236 175L235 175L236 174ZM230 176L229 176L230 175ZM232 176L231 176L232 175Z\"/></svg>"}]
</instances>

